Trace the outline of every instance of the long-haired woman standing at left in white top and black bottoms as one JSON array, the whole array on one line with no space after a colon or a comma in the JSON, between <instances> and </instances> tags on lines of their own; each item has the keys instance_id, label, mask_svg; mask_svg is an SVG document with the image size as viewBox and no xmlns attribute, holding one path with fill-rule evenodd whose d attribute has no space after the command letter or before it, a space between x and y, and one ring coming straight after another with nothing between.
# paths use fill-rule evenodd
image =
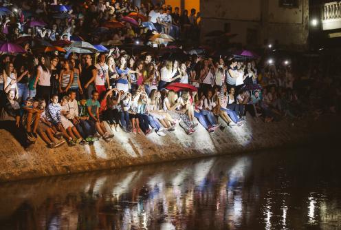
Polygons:
<instances>
[{"instance_id":1,"label":"long-haired woman standing at left in white top and black bottoms","mask_svg":"<svg viewBox=\"0 0 341 230\"><path fill-rule=\"evenodd\" d=\"M42 56L38 67L36 68L36 81L34 82L36 96L44 98L45 101L50 101L51 94L51 73L50 59L47 56Z\"/></svg>"}]
</instances>

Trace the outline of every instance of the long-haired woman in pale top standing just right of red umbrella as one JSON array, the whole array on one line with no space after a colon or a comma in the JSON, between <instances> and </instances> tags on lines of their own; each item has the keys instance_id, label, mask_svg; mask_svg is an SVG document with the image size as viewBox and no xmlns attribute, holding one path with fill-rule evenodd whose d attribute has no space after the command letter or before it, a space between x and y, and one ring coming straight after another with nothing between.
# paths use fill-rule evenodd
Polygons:
<instances>
[{"instance_id":1,"label":"long-haired woman in pale top standing just right of red umbrella","mask_svg":"<svg viewBox=\"0 0 341 230\"><path fill-rule=\"evenodd\" d=\"M203 60L203 66L200 70L200 89L204 94L206 94L208 90L212 89L212 86L215 85L214 72L216 72L216 68L212 63L212 60Z\"/></svg>"}]
</instances>

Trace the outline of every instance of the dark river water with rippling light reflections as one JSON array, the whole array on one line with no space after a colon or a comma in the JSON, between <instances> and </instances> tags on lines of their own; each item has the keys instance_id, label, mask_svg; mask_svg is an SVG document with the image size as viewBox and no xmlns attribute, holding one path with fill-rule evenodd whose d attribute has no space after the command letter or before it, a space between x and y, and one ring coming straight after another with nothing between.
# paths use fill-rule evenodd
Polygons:
<instances>
[{"instance_id":1,"label":"dark river water with rippling light reflections","mask_svg":"<svg viewBox=\"0 0 341 230\"><path fill-rule=\"evenodd\" d=\"M341 229L340 152L271 150L0 185L1 229Z\"/></svg>"}]
</instances>

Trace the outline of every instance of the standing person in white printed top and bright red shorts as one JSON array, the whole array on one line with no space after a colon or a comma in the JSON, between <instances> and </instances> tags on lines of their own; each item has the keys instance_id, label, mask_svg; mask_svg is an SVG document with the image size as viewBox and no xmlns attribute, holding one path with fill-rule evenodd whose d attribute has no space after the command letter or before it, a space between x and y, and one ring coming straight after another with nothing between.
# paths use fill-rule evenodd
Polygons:
<instances>
[{"instance_id":1,"label":"standing person in white printed top and bright red shorts","mask_svg":"<svg viewBox=\"0 0 341 230\"><path fill-rule=\"evenodd\" d=\"M105 83L107 83L107 86L109 87L109 66L105 63L105 54L100 54L98 56L98 63L95 65L96 67L96 79L95 79L95 85L96 90L102 96L106 92Z\"/></svg>"}]
</instances>

